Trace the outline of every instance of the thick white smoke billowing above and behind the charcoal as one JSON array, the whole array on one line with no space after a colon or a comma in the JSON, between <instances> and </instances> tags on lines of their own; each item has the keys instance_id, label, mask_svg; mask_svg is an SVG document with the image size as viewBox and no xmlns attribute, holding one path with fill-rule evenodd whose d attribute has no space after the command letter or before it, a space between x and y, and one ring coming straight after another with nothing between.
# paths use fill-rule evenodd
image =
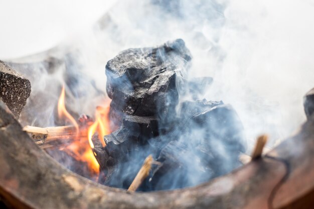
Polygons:
<instances>
[{"instance_id":1,"label":"thick white smoke billowing above and behind the charcoal","mask_svg":"<svg viewBox=\"0 0 314 209\"><path fill-rule=\"evenodd\" d=\"M119 1L93 30L64 43L80 52L88 75L81 81L105 91L105 65L121 50L182 38L193 55L189 76L214 78L205 97L234 107L249 144L268 133L272 146L305 120L302 97L314 86L313 11L309 0ZM94 92L86 82L80 88ZM93 112L99 104L91 95L73 109Z\"/></svg>"}]
</instances>

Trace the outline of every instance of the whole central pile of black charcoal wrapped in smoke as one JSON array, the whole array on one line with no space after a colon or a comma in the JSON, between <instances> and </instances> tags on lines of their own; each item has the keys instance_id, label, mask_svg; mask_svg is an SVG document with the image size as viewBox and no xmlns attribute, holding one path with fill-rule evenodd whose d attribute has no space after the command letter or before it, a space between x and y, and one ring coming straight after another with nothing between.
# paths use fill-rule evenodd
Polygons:
<instances>
[{"instance_id":1,"label":"whole central pile of black charcoal wrapped in smoke","mask_svg":"<svg viewBox=\"0 0 314 209\"><path fill-rule=\"evenodd\" d=\"M107 63L115 131L104 137L106 147L94 143L100 183L128 188L150 154L159 163L141 191L197 185L239 166L245 150L241 121L230 105L199 98L212 78L188 79L191 60L178 39L125 50Z\"/></svg>"}]
</instances>

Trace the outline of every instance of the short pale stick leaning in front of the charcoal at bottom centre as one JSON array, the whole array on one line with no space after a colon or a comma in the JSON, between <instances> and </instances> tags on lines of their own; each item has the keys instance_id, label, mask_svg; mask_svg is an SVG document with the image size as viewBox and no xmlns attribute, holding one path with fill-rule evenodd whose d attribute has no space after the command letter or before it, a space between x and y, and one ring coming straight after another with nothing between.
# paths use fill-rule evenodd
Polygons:
<instances>
[{"instance_id":1,"label":"short pale stick leaning in front of the charcoal at bottom centre","mask_svg":"<svg viewBox=\"0 0 314 209\"><path fill-rule=\"evenodd\" d=\"M149 170L151 168L152 161L153 161L153 159L152 159L151 155L146 157L142 167L139 169L139 171L138 171L137 175L135 176L134 180L132 181L130 187L127 189L128 191L136 191L138 186L149 175Z\"/></svg>"}]
</instances>

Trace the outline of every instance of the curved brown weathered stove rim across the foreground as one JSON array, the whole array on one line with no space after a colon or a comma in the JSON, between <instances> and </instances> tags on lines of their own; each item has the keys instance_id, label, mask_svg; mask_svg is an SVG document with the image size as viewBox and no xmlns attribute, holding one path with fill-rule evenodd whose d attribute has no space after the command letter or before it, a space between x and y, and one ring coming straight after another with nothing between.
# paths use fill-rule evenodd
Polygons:
<instances>
[{"instance_id":1,"label":"curved brown weathered stove rim across the foreground","mask_svg":"<svg viewBox=\"0 0 314 209\"><path fill-rule=\"evenodd\" d=\"M128 193L63 168L0 102L0 195L17 208L280 208L314 188L313 155L314 124L309 121L264 158L211 182Z\"/></svg>"}]
</instances>

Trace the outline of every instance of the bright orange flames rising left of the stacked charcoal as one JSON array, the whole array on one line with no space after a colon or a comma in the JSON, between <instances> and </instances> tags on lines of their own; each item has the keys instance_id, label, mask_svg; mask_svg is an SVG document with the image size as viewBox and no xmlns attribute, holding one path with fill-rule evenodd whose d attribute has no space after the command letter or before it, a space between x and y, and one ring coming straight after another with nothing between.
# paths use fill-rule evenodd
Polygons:
<instances>
[{"instance_id":1,"label":"bright orange flames rising left of the stacked charcoal","mask_svg":"<svg viewBox=\"0 0 314 209\"><path fill-rule=\"evenodd\" d=\"M96 119L95 122L88 127L88 134L86 137L77 136L79 140L73 141L70 145L66 146L63 151L67 152L69 155L74 157L76 160L86 162L91 172L91 176L97 179L99 175L99 164L94 156L93 148L94 144L92 142L92 136L97 131L99 135L99 140L102 146L105 146L105 141L103 136L110 133L109 121L108 121L109 105L105 108L97 107L96 109ZM79 133L79 126L75 119L69 114L65 108L65 90L62 88L62 92L58 102L58 114L60 118L68 120L77 129Z\"/></svg>"}]
</instances>

